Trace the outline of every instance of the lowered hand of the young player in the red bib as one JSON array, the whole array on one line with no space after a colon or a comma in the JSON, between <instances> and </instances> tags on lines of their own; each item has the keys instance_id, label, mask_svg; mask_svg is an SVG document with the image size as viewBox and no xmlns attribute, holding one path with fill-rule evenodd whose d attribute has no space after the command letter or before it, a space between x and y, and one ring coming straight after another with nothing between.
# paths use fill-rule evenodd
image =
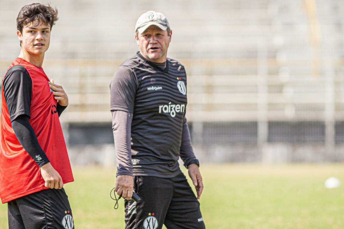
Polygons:
<instances>
[{"instance_id":1,"label":"lowered hand of the young player in the red bib","mask_svg":"<svg viewBox=\"0 0 344 229\"><path fill-rule=\"evenodd\" d=\"M49 163L46 163L41 167L41 174L43 180L45 181L45 187L61 189L63 187L63 182L60 174L53 168Z\"/></svg>"}]
</instances>

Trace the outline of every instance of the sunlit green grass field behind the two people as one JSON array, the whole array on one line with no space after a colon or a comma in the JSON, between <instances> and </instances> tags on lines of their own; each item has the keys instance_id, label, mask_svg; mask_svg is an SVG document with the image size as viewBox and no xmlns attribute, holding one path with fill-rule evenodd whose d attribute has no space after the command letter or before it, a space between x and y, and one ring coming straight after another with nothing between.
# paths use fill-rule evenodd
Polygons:
<instances>
[{"instance_id":1,"label":"sunlit green grass field behind the two people","mask_svg":"<svg viewBox=\"0 0 344 229\"><path fill-rule=\"evenodd\" d=\"M77 229L124 228L123 202L114 210L109 193L115 170L74 168L65 185ZM344 164L201 165L201 210L207 229L344 228L344 187L324 187L329 176L344 181ZM0 228L7 226L0 206Z\"/></svg>"}]
</instances>

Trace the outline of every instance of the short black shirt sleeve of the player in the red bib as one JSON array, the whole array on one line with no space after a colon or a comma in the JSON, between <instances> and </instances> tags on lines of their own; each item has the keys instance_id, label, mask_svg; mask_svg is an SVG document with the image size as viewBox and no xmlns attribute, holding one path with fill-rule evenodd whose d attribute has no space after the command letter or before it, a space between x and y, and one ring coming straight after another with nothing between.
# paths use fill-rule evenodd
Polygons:
<instances>
[{"instance_id":1,"label":"short black shirt sleeve of the player in the red bib","mask_svg":"<svg viewBox=\"0 0 344 229\"><path fill-rule=\"evenodd\" d=\"M8 70L3 90L11 121L23 114L30 117L32 81L23 66L17 65Z\"/></svg>"}]
</instances>

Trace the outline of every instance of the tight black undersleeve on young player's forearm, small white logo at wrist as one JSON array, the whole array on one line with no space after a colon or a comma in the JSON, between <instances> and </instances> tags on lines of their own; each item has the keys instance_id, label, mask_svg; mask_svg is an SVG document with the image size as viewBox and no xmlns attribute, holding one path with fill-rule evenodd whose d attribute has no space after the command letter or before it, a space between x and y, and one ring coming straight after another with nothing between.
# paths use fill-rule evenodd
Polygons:
<instances>
[{"instance_id":1,"label":"tight black undersleeve on young player's forearm, small white logo at wrist","mask_svg":"<svg viewBox=\"0 0 344 229\"><path fill-rule=\"evenodd\" d=\"M39 167L49 163L49 159L41 148L37 140L37 136L29 123L29 116L19 115L12 121L12 128L20 144L24 147L26 152L30 154Z\"/></svg>"}]
</instances>

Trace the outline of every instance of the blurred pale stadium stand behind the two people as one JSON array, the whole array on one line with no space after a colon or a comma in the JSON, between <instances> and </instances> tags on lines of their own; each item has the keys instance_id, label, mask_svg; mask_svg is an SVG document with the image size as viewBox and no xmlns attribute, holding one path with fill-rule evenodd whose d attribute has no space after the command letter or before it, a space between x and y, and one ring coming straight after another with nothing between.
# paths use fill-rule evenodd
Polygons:
<instances>
[{"instance_id":1,"label":"blurred pale stadium stand behind the two people","mask_svg":"<svg viewBox=\"0 0 344 229\"><path fill-rule=\"evenodd\" d=\"M0 0L2 74L19 54L17 14ZM173 31L187 115L206 162L344 161L343 0L51 1L60 20L44 69L69 96L61 116L74 163L112 164L109 82L138 50L148 10ZM92 159L92 160L91 160Z\"/></svg>"}]
</instances>

